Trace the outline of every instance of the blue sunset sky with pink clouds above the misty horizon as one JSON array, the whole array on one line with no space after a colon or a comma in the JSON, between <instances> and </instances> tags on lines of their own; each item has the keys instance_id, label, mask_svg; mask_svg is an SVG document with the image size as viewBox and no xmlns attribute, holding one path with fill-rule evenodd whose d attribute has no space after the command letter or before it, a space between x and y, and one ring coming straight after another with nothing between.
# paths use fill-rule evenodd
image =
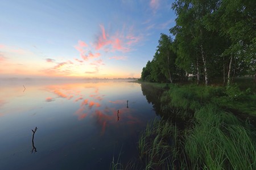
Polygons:
<instances>
[{"instance_id":1,"label":"blue sunset sky with pink clouds above the misty horizon","mask_svg":"<svg viewBox=\"0 0 256 170\"><path fill-rule=\"evenodd\" d=\"M139 78L168 0L0 1L0 78Z\"/></svg>"}]
</instances>

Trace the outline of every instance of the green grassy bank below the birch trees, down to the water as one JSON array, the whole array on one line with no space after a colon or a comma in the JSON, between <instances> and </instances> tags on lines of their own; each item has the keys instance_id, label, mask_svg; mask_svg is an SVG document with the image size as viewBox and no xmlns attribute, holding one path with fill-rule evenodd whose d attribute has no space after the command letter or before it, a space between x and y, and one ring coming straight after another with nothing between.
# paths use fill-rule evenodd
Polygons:
<instances>
[{"instance_id":1,"label":"green grassy bank below the birch trees, down to the water","mask_svg":"<svg viewBox=\"0 0 256 170\"><path fill-rule=\"evenodd\" d=\"M256 169L254 88L168 87L139 140L143 169Z\"/></svg>"}]
</instances>

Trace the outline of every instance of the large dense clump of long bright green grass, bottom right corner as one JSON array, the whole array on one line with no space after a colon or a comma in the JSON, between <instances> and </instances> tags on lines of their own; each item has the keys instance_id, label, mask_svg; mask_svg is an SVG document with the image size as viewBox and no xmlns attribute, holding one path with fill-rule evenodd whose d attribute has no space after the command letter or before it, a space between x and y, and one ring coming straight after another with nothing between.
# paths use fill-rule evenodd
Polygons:
<instances>
[{"instance_id":1,"label":"large dense clump of long bright green grass, bottom right corner","mask_svg":"<svg viewBox=\"0 0 256 170\"><path fill-rule=\"evenodd\" d=\"M189 169L255 169L252 132L230 113L207 105L195 113L195 128L185 137Z\"/></svg>"}]
</instances>

